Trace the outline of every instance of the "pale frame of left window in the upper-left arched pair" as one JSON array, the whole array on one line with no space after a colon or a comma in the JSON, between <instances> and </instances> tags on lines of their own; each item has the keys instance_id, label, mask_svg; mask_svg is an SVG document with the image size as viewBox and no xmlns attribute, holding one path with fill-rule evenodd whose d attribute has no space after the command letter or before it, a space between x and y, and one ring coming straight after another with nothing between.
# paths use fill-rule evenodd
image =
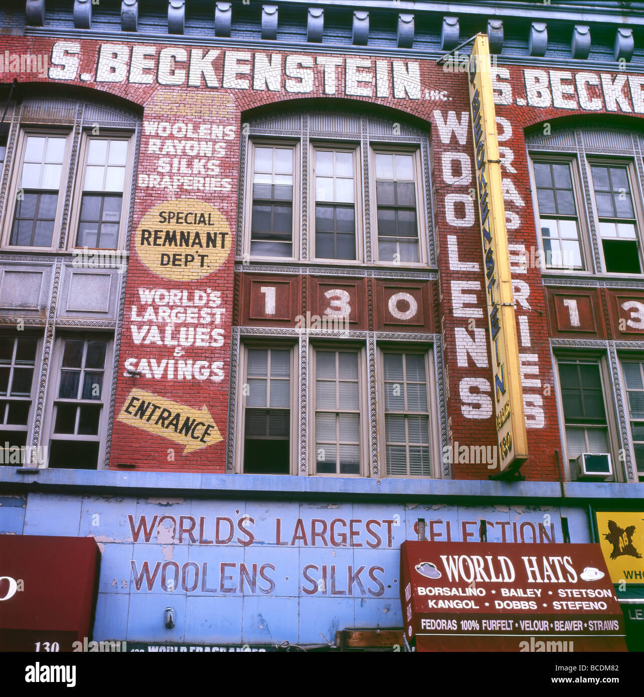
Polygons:
<instances>
[{"instance_id":1,"label":"pale frame of left window in the upper-left arched pair","mask_svg":"<svg viewBox=\"0 0 644 697\"><path fill-rule=\"evenodd\" d=\"M61 181L59 187L59 197L56 203L56 217L54 218L54 231L52 232L52 244L48 247L12 245L11 231L13 229L13 220L15 217L17 206L17 192L20 189L20 176L22 174L22 165L24 164L24 153L26 151L26 141L29 136L33 137L65 137L65 153L63 155L63 164L61 169ZM6 206L3 229L1 231L1 247L4 252L43 252L58 250L59 240L61 236L61 224L63 220L63 208L65 207L66 194L69 183L69 178L72 176L74 164L71 162L73 140L73 128L55 128L54 126L44 125L39 128L36 125L20 125L20 130L17 135L15 154L13 162L10 163L10 183L7 190L5 201L12 201ZM5 158L6 159L6 158ZM4 162L7 166L7 162Z\"/></svg>"}]
</instances>

